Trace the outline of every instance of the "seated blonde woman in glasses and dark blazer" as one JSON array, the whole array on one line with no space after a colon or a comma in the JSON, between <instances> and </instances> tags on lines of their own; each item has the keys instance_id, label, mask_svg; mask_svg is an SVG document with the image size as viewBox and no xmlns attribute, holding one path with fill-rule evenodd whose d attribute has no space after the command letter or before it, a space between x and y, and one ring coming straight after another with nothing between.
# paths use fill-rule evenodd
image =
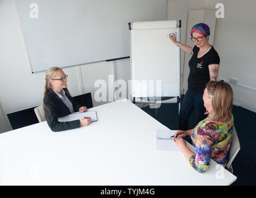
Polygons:
<instances>
[{"instance_id":1,"label":"seated blonde woman in glasses and dark blazer","mask_svg":"<svg viewBox=\"0 0 256 198\"><path fill-rule=\"evenodd\" d=\"M51 67L45 73L45 90L43 92L43 111L48 126L52 131L64 131L87 126L91 119L59 122L58 118L76 111L87 111L86 106L76 103L67 86L68 75L60 67Z\"/></svg>"}]
</instances>

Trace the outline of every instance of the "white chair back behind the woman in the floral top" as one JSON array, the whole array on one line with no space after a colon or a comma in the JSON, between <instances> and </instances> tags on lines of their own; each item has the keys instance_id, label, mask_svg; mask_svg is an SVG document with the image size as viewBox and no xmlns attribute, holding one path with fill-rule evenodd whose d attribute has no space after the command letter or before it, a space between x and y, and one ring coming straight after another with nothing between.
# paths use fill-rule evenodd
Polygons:
<instances>
[{"instance_id":1,"label":"white chair back behind the woman in the floral top","mask_svg":"<svg viewBox=\"0 0 256 198\"><path fill-rule=\"evenodd\" d=\"M236 128L234 126L234 131L232 134L232 140L231 140L231 149L229 153L229 161L227 162L226 169L233 173L233 168L232 168L232 161L236 157L237 153L241 149L240 142L237 136Z\"/></svg>"}]
</instances>

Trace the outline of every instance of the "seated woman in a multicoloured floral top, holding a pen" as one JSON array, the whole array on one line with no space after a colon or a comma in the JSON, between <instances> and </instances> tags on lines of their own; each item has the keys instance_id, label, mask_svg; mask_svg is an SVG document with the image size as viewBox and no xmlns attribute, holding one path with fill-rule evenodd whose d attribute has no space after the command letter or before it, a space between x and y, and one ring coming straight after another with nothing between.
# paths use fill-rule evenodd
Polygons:
<instances>
[{"instance_id":1,"label":"seated woman in a multicoloured floral top, holding a pen","mask_svg":"<svg viewBox=\"0 0 256 198\"><path fill-rule=\"evenodd\" d=\"M203 101L208 118L203 119L194 129L177 131L174 136L175 145L190 165L200 173L208 170L211 159L226 166L234 129L234 118L231 113L233 92L229 84L221 81L208 82ZM195 153L188 149L182 139L185 136L191 137Z\"/></svg>"}]
</instances>

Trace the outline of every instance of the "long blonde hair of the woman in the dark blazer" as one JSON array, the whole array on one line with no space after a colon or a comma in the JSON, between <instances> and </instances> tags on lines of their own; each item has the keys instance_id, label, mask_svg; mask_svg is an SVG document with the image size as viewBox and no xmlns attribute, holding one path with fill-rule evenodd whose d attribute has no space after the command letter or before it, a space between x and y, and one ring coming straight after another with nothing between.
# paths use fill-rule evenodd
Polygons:
<instances>
[{"instance_id":1,"label":"long blonde hair of the woman in the dark blazer","mask_svg":"<svg viewBox=\"0 0 256 198\"><path fill-rule=\"evenodd\" d=\"M45 98L46 93L50 90L51 88L51 84L50 84L50 80L55 79L56 76L56 72L58 72L59 70L62 71L62 69L60 67L50 67L49 69L46 70L45 72L45 89L43 90L43 98ZM67 95L69 95L69 97L71 97L68 88L64 89L65 92L67 93ZM45 108L47 108L47 106L45 106L45 104L42 102L43 104L43 117L45 118Z\"/></svg>"}]
</instances>

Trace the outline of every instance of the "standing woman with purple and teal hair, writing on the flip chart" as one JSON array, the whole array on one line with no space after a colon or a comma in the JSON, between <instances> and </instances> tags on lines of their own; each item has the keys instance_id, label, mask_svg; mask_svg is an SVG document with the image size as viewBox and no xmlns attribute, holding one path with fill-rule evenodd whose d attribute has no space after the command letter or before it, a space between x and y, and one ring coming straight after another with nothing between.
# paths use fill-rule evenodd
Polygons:
<instances>
[{"instance_id":1,"label":"standing woman with purple and teal hair, writing on the flip chart","mask_svg":"<svg viewBox=\"0 0 256 198\"><path fill-rule=\"evenodd\" d=\"M206 24L196 24L190 30L190 38L195 46L183 45L170 34L170 39L185 52L192 54L188 62L188 90L182 100L179 114L179 129L188 130L188 119L195 110L196 123L206 118L206 109L203 105L203 92L209 80L217 80L219 72L219 55L208 43L210 28Z\"/></svg>"}]
</instances>

